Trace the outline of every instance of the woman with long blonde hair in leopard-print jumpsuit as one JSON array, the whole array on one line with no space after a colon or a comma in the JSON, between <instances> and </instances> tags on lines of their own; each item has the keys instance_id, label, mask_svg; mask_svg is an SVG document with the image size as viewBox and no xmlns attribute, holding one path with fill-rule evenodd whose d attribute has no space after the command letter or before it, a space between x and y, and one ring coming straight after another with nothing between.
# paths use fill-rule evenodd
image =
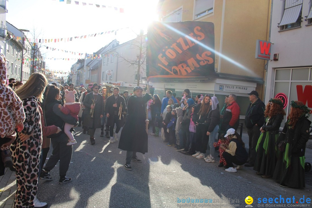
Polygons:
<instances>
[{"instance_id":1,"label":"woman with long blonde hair in leopard-print jumpsuit","mask_svg":"<svg viewBox=\"0 0 312 208\"><path fill-rule=\"evenodd\" d=\"M38 101L42 101L47 84L45 75L33 73L29 80L15 91L23 102L26 115L23 123L24 129L21 133L28 136L21 138L21 134L19 134L11 145L17 181L14 207L33 207L34 203L39 202L36 194L42 130Z\"/></svg>"}]
</instances>

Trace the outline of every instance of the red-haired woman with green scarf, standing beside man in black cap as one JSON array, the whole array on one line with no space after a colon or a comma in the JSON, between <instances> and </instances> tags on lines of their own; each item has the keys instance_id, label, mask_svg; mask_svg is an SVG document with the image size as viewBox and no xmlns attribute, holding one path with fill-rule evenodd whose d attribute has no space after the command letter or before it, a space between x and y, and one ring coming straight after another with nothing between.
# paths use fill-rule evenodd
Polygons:
<instances>
[{"instance_id":1,"label":"red-haired woman with green scarf, standing beside man in black cap","mask_svg":"<svg viewBox=\"0 0 312 208\"><path fill-rule=\"evenodd\" d=\"M282 101L277 98L270 99L264 112L265 123L260 128L261 135L256 146L257 156L253 168L263 178L273 176L277 158L275 144L284 115Z\"/></svg>"}]
</instances>

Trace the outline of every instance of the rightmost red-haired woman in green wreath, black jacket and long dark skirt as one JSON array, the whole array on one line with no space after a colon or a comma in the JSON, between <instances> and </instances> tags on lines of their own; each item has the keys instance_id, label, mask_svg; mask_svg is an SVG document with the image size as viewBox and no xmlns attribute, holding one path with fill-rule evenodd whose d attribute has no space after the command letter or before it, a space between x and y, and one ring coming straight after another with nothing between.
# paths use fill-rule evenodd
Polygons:
<instances>
[{"instance_id":1,"label":"rightmost red-haired woman in green wreath, black jacket and long dark skirt","mask_svg":"<svg viewBox=\"0 0 312 208\"><path fill-rule=\"evenodd\" d=\"M285 151L281 152L276 163L273 178L282 187L305 187L305 144L309 139L311 121L310 109L301 101L291 101L287 122L278 139L286 141Z\"/></svg>"}]
</instances>

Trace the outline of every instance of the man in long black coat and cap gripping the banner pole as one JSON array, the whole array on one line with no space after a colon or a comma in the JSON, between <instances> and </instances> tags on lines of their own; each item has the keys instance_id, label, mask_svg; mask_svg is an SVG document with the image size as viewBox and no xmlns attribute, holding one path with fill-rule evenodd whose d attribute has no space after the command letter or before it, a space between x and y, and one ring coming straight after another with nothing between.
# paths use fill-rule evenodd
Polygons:
<instances>
[{"instance_id":1,"label":"man in long black coat and cap gripping the banner pole","mask_svg":"<svg viewBox=\"0 0 312 208\"><path fill-rule=\"evenodd\" d=\"M128 98L128 115L124 128L120 134L119 149L127 151L126 164L124 168L126 170L132 170L130 163L142 162L136 156L137 152L147 152L148 136L145 131L146 122L146 102L152 99L149 94L142 96L143 88L135 87L133 89L134 94Z\"/></svg>"}]
</instances>

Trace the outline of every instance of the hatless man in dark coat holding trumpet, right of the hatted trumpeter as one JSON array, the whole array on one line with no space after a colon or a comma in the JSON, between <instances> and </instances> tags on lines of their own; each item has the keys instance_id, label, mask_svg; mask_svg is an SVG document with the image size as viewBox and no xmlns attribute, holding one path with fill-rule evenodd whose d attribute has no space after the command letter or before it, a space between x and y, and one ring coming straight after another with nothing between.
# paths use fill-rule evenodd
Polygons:
<instances>
[{"instance_id":1,"label":"hatless man in dark coat holding trumpet, right of the hatted trumpeter","mask_svg":"<svg viewBox=\"0 0 312 208\"><path fill-rule=\"evenodd\" d=\"M120 105L121 115L119 114ZM107 117L106 123L106 134L110 132L110 143L114 143L114 140L118 140L117 134L123 125L124 114L126 114L126 104L124 103L124 98L119 95L119 88L114 87L113 94L106 99L105 113ZM120 120L119 120L120 118ZM114 134L114 125L116 123L116 130ZM114 138L113 138L114 136Z\"/></svg>"}]
</instances>

